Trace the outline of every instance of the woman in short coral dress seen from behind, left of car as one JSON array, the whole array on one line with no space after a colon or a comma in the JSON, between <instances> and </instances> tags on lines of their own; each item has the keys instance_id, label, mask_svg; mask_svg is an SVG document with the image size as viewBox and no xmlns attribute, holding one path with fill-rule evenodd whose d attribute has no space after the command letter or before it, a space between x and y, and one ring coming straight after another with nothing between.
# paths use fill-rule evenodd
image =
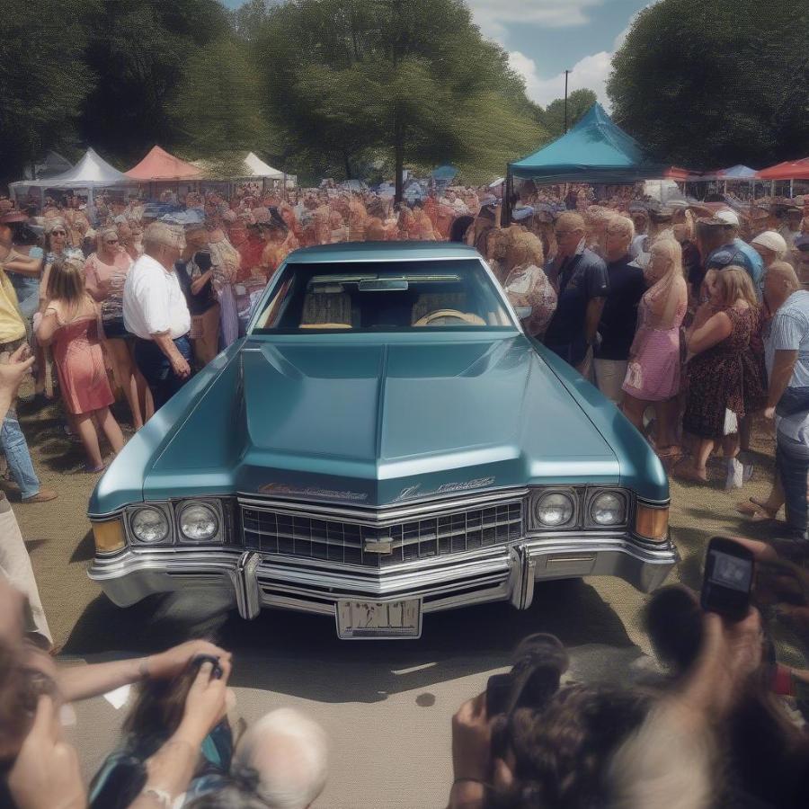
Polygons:
<instances>
[{"instance_id":1,"label":"woman in short coral dress seen from behind, left of car","mask_svg":"<svg viewBox=\"0 0 809 809\"><path fill-rule=\"evenodd\" d=\"M102 428L116 455L123 449L124 439L110 412L115 398L104 367L101 313L84 289L83 271L78 257L60 257L53 262L48 301L36 329L40 342L53 346L62 399L87 453L85 468L101 472L104 462L95 424Z\"/></svg>"}]
</instances>

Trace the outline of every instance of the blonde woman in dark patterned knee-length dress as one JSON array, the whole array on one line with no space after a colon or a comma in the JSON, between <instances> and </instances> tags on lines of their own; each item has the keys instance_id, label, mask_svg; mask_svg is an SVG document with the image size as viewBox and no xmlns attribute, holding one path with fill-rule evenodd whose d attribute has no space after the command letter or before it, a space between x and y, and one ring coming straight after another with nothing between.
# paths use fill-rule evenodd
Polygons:
<instances>
[{"instance_id":1,"label":"blonde woman in dark patterned knee-length dress","mask_svg":"<svg viewBox=\"0 0 809 809\"><path fill-rule=\"evenodd\" d=\"M689 397L683 431L695 439L690 463L675 474L686 480L707 481L707 459L722 445L727 459L725 488L741 485L738 474L739 422L745 411L745 357L758 324L758 301L748 273L731 265L711 271L706 278L710 298L700 307L686 336L689 350Z\"/></svg>"}]
</instances>

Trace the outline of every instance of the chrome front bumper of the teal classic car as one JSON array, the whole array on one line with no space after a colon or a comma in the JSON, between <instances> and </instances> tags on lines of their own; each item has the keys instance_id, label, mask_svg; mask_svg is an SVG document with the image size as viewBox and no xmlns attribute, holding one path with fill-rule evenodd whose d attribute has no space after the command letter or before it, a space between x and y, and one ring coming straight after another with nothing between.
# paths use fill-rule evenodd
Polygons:
<instances>
[{"instance_id":1,"label":"chrome front bumper of the teal classic car","mask_svg":"<svg viewBox=\"0 0 809 809\"><path fill-rule=\"evenodd\" d=\"M153 593L204 583L230 598L243 618L255 618L264 607L333 616L342 599L421 599L424 612L505 600L528 609L536 582L607 575L650 592L678 561L671 541L653 546L624 534L581 532L526 538L510 547L383 570L238 548L129 547L112 556L96 556L89 575L120 607Z\"/></svg>"}]
</instances>

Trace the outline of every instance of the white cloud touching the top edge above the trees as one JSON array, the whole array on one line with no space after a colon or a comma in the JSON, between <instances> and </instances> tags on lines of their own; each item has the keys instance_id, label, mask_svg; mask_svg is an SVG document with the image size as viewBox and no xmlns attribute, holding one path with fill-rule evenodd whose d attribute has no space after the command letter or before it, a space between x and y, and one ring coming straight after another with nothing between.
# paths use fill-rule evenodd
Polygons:
<instances>
[{"instance_id":1,"label":"white cloud touching the top edge above the trees","mask_svg":"<svg viewBox=\"0 0 809 809\"><path fill-rule=\"evenodd\" d=\"M467 0L475 22L488 37L502 40L509 23L569 28L590 22L587 10L605 0Z\"/></svg>"}]
</instances>

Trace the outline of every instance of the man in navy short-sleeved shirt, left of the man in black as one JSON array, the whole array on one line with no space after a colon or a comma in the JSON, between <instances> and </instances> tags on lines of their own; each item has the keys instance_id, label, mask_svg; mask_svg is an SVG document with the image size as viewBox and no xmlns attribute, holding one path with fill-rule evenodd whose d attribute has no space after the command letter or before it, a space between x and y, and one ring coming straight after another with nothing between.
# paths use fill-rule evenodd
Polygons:
<instances>
[{"instance_id":1,"label":"man in navy short-sleeved shirt, left of the man in black","mask_svg":"<svg viewBox=\"0 0 809 809\"><path fill-rule=\"evenodd\" d=\"M607 265L584 246L587 228L581 214L561 214L554 229L559 253L547 264L546 273L558 301L545 344L587 378L609 289Z\"/></svg>"}]
</instances>

